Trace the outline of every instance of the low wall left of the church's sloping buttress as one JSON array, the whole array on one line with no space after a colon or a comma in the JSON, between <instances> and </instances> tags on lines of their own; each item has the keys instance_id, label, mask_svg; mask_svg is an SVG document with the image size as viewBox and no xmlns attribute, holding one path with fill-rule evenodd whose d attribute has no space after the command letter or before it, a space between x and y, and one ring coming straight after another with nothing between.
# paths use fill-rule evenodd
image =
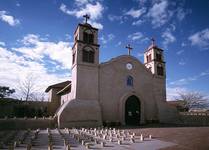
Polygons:
<instances>
[{"instance_id":1,"label":"low wall left of the church's sloping buttress","mask_svg":"<svg viewBox=\"0 0 209 150\"><path fill-rule=\"evenodd\" d=\"M0 119L0 130L54 128L53 118L4 118Z\"/></svg>"}]
</instances>

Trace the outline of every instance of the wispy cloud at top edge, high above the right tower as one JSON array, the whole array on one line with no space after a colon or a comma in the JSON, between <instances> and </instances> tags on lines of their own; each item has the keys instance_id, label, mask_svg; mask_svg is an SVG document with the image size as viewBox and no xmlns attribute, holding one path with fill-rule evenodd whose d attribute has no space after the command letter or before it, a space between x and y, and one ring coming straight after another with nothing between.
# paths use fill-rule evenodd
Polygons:
<instances>
[{"instance_id":1,"label":"wispy cloud at top edge, high above the right tower","mask_svg":"<svg viewBox=\"0 0 209 150\"><path fill-rule=\"evenodd\" d=\"M151 23L154 28L167 23L172 15L172 11L168 11L167 0L160 0L154 3L147 13L147 17L151 19Z\"/></svg>"}]
</instances>

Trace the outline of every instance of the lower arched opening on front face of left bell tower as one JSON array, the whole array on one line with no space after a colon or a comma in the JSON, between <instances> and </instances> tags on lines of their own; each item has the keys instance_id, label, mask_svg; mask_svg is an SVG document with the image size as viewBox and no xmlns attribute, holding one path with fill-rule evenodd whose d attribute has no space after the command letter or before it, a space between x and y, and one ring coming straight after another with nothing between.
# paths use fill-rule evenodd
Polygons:
<instances>
[{"instance_id":1,"label":"lower arched opening on front face of left bell tower","mask_svg":"<svg viewBox=\"0 0 209 150\"><path fill-rule=\"evenodd\" d=\"M94 63L94 50L91 47L83 49L83 62Z\"/></svg>"}]
</instances>

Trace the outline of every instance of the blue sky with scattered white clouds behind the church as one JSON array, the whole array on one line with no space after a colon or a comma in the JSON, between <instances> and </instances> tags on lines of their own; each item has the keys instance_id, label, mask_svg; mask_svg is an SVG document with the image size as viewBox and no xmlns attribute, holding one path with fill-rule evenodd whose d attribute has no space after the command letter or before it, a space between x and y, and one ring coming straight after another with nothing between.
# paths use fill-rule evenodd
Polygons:
<instances>
[{"instance_id":1,"label":"blue sky with scattered white clouds behind the church","mask_svg":"<svg viewBox=\"0 0 209 150\"><path fill-rule=\"evenodd\" d=\"M150 38L164 49L167 96L209 95L208 0L0 1L0 85L18 89L29 75L37 91L70 78L73 32L83 14L99 28L100 61L127 54L143 62Z\"/></svg>"}]
</instances>

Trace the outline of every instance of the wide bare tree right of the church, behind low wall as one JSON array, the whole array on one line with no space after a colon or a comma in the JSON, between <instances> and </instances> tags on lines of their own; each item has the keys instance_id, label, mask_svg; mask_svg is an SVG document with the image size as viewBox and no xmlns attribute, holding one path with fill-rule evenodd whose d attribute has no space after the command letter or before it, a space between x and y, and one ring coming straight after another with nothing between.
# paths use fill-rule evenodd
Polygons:
<instances>
[{"instance_id":1,"label":"wide bare tree right of the church, behind low wall","mask_svg":"<svg viewBox=\"0 0 209 150\"><path fill-rule=\"evenodd\" d=\"M192 108L205 108L208 104L208 99L200 92L179 92L178 94L176 100L181 101L181 107L187 111Z\"/></svg>"}]
</instances>

